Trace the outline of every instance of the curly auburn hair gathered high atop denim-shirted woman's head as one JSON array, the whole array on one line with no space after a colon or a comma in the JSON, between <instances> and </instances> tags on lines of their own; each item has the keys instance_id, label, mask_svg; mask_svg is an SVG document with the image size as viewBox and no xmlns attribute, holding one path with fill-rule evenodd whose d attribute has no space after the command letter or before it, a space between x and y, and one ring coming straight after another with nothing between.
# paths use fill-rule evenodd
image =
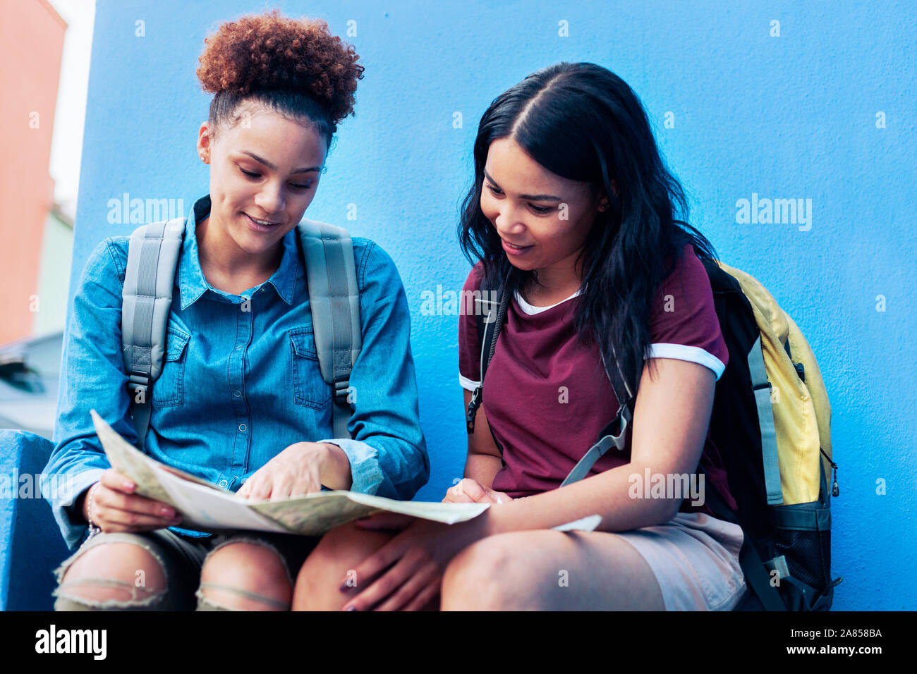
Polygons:
<instances>
[{"instance_id":1,"label":"curly auburn hair gathered high atop denim-shirted woman's head","mask_svg":"<svg viewBox=\"0 0 917 674\"><path fill-rule=\"evenodd\" d=\"M353 115L363 66L353 47L322 19L271 13L222 24L204 39L197 77L214 95L210 122L234 124L238 105L255 100L287 116L309 119L330 142Z\"/></svg>"}]
</instances>

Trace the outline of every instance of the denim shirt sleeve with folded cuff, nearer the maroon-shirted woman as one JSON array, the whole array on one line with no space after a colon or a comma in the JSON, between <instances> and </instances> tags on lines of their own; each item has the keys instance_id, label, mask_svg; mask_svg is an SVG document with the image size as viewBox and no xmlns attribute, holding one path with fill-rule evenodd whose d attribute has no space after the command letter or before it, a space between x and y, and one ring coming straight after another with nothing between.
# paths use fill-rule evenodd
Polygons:
<instances>
[{"instance_id":1,"label":"denim shirt sleeve with folded cuff, nearer the maroon-shirted woman","mask_svg":"<svg viewBox=\"0 0 917 674\"><path fill-rule=\"evenodd\" d=\"M362 245L358 246L358 242ZM430 476L420 427L411 316L388 253L355 239L362 348L350 373L350 438L328 438L350 462L351 491L408 500Z\"/></svg>"}]
</instances>

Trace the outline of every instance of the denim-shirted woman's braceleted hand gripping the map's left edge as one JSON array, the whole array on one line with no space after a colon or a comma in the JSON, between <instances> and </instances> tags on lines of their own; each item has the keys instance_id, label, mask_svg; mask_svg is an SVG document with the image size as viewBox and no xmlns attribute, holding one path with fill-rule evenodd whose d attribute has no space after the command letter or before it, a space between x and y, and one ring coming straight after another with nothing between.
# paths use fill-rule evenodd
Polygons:
<instances>
[{"instance_id":1,"label":"denim-shirted woman's braceleted hand gripping the map's left edge","mask_svg":"<svg viewBox=\"0 0 917 674\"><path fill-rule=\"evenodd\" d=\"M153 531L182 522L182 516L168 503L133 493L137 489L126 475L110 468L83 498L83 517L89 521L92 494L93 522L106 534Z\"/></svg>"}]
</instances>

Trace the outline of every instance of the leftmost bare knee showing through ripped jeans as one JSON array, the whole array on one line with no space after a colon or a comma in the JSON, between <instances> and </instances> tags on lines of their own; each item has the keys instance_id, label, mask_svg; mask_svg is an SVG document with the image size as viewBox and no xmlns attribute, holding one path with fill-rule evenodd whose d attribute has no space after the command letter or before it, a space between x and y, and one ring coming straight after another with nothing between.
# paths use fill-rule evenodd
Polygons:
<instances>
[{"instance_id":1,"label":"leftmost bare knee showing through ripped jeans","mask_svg":"<svg viewBox=\"0 0 917 674\"><path fill-rule=\"evenodd\" d=\"M55 595L57 608L69 602L129 608L154 602L165 591L165 571L152 553L133 543L102 543L73 561Z\"/></svg>"}]
</instances>

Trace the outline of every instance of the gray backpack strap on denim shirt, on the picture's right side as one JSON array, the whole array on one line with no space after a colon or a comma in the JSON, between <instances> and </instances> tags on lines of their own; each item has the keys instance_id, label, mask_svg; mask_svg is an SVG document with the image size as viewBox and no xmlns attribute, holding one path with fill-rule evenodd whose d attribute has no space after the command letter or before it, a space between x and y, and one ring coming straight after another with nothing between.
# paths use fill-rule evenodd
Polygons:
<instances>
[{"instance_id":1,"label":"gray backpack strap on denim shirt, on the picture's right side","mask_svg":"<svg viewBox=\"0 0 917 674\"><path fill-rule=\"evenodd\" d=\"M305 276L322 378L332 386L334 436L350 437L350 370L362 347L359 287L347 230L315 220L296 227L303 242Z\"/></svg>"}]
</instances>

